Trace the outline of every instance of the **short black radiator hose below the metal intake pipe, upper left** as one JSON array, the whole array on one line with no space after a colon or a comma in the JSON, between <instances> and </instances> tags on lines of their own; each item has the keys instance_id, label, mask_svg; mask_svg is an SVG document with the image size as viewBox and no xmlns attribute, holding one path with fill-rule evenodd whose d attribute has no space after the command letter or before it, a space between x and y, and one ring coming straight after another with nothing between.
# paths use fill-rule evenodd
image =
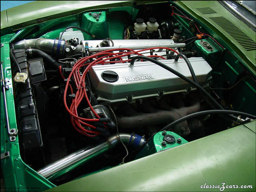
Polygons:
<instances>
[{"instance_id":1,"label":"short black radiator hose below the metal intake pipe, upper left","mask_svg":"<svg viewBox=\"0 0 256 192\"><path fill-rule=\"evenodd\" d=\"M49 63L54 69L58 69L58 66L65 67L65 64L62 64L56 61L52 56L48 55L46 52L43 52L39 49L31 49L33 57L42 57L44 62ZM26 50L27 54L30 55L29 49Z\"/></svg>"}]
</instances>

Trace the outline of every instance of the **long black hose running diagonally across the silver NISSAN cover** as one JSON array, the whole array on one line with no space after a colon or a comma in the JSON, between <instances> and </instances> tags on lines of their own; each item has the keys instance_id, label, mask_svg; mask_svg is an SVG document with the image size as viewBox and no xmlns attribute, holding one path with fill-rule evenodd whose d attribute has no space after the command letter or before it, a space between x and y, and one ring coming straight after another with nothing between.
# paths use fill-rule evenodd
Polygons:
<instances>
[{"instance_id":1,"label":"long black hose running diagonally across the silver NISSAN cover","mask_svg":"<svg viewBox=\"0 0 256 192\"><path fill-rule=\"evenodd\" d=\"M195 86L196 88L198 88L203 94L205 94L205 95L209 98L209 100L210 100L217 108L223 110L222 106L221 106L206 90L204 90L204 88L202 88L199 84L196 84L194 81L190 80L189 78L187 78L187 77L184 76L183 74L177 72L177 71L174 70L173 68L170 68L170 67L166 66L165 64L163 64L163 63L161 63L161 62L159 62L159 61L157 61L157 60L155 60L155 59L148 58L148 57L146 57L146 56L135 56L135 57L133 57L133 58L131 59L131 65L133 65L134 62L135 62L135 60L137 60L137 59L143 59L143 60L146 60L146 61L150 61L150 62L152 62L152 63L155 63L155 64L157 64L157 65L159 65L159 66L165 68L165 69L168 70L169 72L172 72L173 74L177 75L179 78L185 80L185 81L188 82L189 84L191 84L191 85ZM232 119L234 119L234 120L237 120L237 117L234 116L234 115L231 115L231 114L230 114L230 115L228 115L228 116L230 116L230 117L231 117Z\"/></svg>"}]
</instances>

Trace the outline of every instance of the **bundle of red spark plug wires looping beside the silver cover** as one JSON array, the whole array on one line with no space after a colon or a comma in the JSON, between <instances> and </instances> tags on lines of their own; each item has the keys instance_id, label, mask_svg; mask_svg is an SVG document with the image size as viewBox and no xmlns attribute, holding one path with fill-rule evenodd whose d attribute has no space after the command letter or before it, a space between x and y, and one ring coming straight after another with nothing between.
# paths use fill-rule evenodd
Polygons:
<instances>
[{"instance_id":1,"label":"bundle of red spark plug wires looping beside the silver cover","mask_svg":"<svg viewBox=\"0 0 256 192\"><path fill-rule=\"evenodd\" d=\"M91 127L93 129L95 129L96 127L88 124L87 122L94 122L94 121L99 121L99 115L95 112L95 110L93 109L93 107L91 106L91 103L89 101L89 98L87 96L87 92L86 92L86 85L85 85L85 76L87 74L87 72L91 69L92 66L96 65L96 64L105 64L105 63L118 63L118 62L127 62L130 60L123 60L122 57L124 56L128 56L131 54L137 54L137 55L142 55L139 52L145 51L145 50L151 50L151 49L167 49L167 50L171 50L173 52L175 52L176 54L178 54L177 51L171 49L171 48L165 48L165 47L155 47L155 48L147 48L147 49L143 49L143 50L138 50L138 51L134 51L131 49L127 49L127 48L117 48L117 49L112 49L112 50L106 50L103 52L99 52L96 54L93 54L92 56L87 56L85 58L82 58L81 60L79 60L74 66L73 66L73 70L71 71L71 73L69 74L69 77L67 79L67 83L66 83L66 87L65 87L65 91L64 91L64 105L66 110L69 112L70 116L71 116L71 122L73 127L75 128L75 130L77 130L79 133L85 135L85 136L89 136L89 137L93 137L93 136L97 136L99 134L101 134L100 132L95 132L95 131L91 131L91 130L87 130L85 127L82 126L82 124L84 126L87 127ZM118 50L127 50L130 52L118 52L118 53L113 53L112 51L118 51ZM103 56L102 56L103 55ZM99 57L101 56L101 57ZM110 57L112 56L112 57ZM151 55L148 57L158 57L158 58L162 58L165 59L162 56L158 56L158 55ZM91 63L85 63L87 62L89 59L92 58L96 58L95 60L93 60L93 62ZM107 61L107 60L112 60L115 58L119 58L119 61ZM80 74L80 69L81 67L85 67L85 70L81 76ZM60 72L60 76L65 79L65 77L62 75L62 67L59 67L59 72ZM77 92L75 94L75 99L72 99L72 103L71 106L68 107L67 106L67 88L68 86L71 88L71 92L73 93L71 84L69 83L71 78L73 77L73 80L75 82L75 85L77 87ZM81 118L78 116L77 113L77 108L79 107L79 104L82 102L83 98L86 99L90 109L93 111L93 113L95 114L96 118L95 119L87 119L87 118ZM86 121L86 122L84 122ZM106 124L106 122L103 122L104 124ZM105 128L107 128L106 126L104 126Z\"/></svg>"}]
</instances>

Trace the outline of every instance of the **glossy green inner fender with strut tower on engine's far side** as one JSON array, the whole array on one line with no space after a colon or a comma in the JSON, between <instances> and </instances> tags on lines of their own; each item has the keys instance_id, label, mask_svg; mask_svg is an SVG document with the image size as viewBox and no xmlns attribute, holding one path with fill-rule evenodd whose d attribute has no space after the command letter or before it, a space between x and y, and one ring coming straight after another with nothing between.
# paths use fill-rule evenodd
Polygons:
<instances>
[{"instance_id":1,"label":"glossy green inner fender with strut tower on engine's far side","mask_svg":"<svg viewBox=\"0 0 256 192\"><path fill-rule=\"evenodd\" d=\"M125 26L127 25L126 16L129 16L129 18L131 18L132 20L135 20L135 16L137 15L138 11L139 11L138 9L135 9L131 6L109 9L107 12L105 12L107 23L105 21L103 22L102 19L100 19L99 22L95 22L95 19L93 19L92 22L89 22L88 18L85 16L85 14L83 14L81 18L81 21L82 21L81 26L79 22L77 22L77 20L80 20L79 16L69 16L61 19L47 21L47 22L44 22L43 24L39 24L39 28L40 29L42 28L42 30L46 31L47 28L50 29L53 26L53 24L56 25L56 23L58 23L58 29L51 30L50 32L47 32L46 34L40 37L54 39L54 38L57 38L59 36L59 33L62 32L66 27L77 26L87 30L88 32L91 32L97 37L102 37L102 38L110 37L111 39L123 39L123 31L125 29ZM122 17L120 16L120 13L127 13L127 15ZM87 24L91 24L89 25L89 28L87 28L88 26ZM75 31L78 29L73 29L73 30ZM40 30L38 32L35 32L33 36L31 36L31 38L37 37L39 32L42 32L42 31ZM84 32L82 33L84 35L85 40L95 39Z\"/></svg>"}]
</instances>

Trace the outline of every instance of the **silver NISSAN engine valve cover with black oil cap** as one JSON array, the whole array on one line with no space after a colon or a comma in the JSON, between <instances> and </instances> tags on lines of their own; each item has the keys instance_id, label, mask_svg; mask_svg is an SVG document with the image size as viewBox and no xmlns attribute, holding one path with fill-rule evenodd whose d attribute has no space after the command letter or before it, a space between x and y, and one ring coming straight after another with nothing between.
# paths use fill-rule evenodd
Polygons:
<instances>
[{"instance_id":1,"label":"silver NISSAN engine valve cover with black oil cap","mask_svg":"<svg viewBox=\"0 0 256 192\"><path fill-rule=\"evenodd\" d=\"M173 60L159 60L192 80L185 61L179 58L177 63ZM212 68L202 57L189 58L199 83L203 86L210 78ZM113 71L118 74L116 82L103 80L102 73ZM95 93L107 100L125 98L141 98L158 94L158 92L178 92L191 85L173 73L149 61L137 61L133 67L129 63L97 65L89 71Z\"/></svg>"}]
</instances>

